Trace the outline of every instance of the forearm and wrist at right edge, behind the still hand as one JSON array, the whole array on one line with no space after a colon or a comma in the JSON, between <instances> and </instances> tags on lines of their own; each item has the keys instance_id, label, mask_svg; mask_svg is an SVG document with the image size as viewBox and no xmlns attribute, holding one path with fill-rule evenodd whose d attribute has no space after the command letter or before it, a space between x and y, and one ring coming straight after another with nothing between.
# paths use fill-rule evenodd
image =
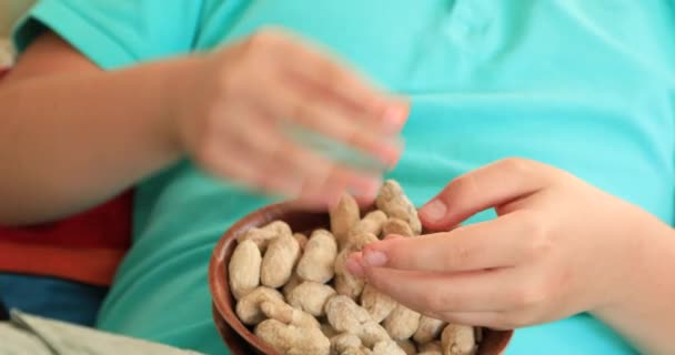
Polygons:
<instances>
[{"instance_id":1,"label":"forearm and wrist at right edge, behind the still hand","mask_svg":"<svg viewBox=\"0 0 675 355\"><path fill-rule=\"evenodd\" d=\"M675 231L654 223L635 234L644 244L626 260L626 275L617 298L594 314L645 354L675 354Z\"/></svg>"}]
</instances>

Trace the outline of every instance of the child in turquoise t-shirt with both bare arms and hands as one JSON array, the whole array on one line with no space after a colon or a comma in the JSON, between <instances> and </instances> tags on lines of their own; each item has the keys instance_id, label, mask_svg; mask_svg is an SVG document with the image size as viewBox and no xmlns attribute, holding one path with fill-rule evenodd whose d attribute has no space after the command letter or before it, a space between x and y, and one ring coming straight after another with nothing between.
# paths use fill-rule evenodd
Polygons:
<instances>
[{"instance_id":1,"label":"child in turquoise t-shirt with both bare arms and hands","mask_svg":"<svg viewBox=\"0 0 675 355\"><path fill-rule=\"evenodd\" d=\"M469 225L351 258L397 301L522 327L508 354L669 354L674 21L665 1L43 1L0 89L0 162L31 162L0 165L0 195L22 196L0 216L49 220L135 184L133 246L98 326L222 352L209 256L270 202L230 181L312 206L376 187L300 149L274 155L282 116L397 161L420 205L452 181L422 220ZM400 99L309 42L412 100L402 156Z\"/></svg>"}]
</instances>

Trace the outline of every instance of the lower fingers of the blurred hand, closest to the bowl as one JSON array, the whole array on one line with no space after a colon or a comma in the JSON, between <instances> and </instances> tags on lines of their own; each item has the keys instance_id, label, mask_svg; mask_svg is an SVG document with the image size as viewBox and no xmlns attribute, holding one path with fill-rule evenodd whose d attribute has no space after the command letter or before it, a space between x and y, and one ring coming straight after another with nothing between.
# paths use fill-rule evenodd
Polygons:
<instances>
[{"instance_id":1,"label":"lower fingers of the blurred hand, closest to the bowl","mask_svg":"<svg viewBox=\"0 0 675 355\"><path fill-rule=\"evenodd\" d=\"M248 164L238 169L246 170L250 184L265 192L298 197L308 207L325 207L338 201L345 190L374 199L380 186L377 176L353 172L299 146L279 134L270 124L272 120L262 112L244 109L238 112L242 120L226 128L231 134L225 141L230 144L223 148L228 151L222 154L230 156L236 152L228 164L232 168Z\"/></svg>"}]
</instances>

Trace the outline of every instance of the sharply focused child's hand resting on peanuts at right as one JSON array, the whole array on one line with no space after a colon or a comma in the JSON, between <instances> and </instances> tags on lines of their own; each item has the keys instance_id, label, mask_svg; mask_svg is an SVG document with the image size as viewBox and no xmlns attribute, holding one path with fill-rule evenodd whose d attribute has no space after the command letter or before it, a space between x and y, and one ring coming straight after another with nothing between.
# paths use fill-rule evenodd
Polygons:
<instances>
[{"instance_id":1,"label":"sharply focused child's hand resting on peanuts at right","mask_svg":"<svg viewBox=\"0 0 675 355\"><path fill-rule=\"evenodd\" d=\"M349 267L431 316L515 328L629 300L653 258L648 236L666 226L563 171L520 159L454 180L420 215L427 229L449 231L490 207L497 219L390 237L351 255Z\"/></svg>"}]
</instances>

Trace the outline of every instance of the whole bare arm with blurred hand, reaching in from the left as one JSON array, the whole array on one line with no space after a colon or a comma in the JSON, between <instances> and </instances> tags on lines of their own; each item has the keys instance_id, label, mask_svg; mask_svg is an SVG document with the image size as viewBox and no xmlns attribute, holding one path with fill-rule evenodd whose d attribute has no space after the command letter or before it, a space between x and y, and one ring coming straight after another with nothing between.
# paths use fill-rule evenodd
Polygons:
<instances>
[{"instance_id":1,"label":"whole bare arm with blurred hand, reaching in from the left","mask_svg":"<svg viewBox=\"0 0 675 355\"><path fill-rule=\"evenodd\" d=\"M53 33L0 84L0 224L59 219L183 156L208 173L325 209L381 176L302 146L284 124L392 164L407 103L280 29L210 54L103 71Z\"/></svg>"}]
</instances>

